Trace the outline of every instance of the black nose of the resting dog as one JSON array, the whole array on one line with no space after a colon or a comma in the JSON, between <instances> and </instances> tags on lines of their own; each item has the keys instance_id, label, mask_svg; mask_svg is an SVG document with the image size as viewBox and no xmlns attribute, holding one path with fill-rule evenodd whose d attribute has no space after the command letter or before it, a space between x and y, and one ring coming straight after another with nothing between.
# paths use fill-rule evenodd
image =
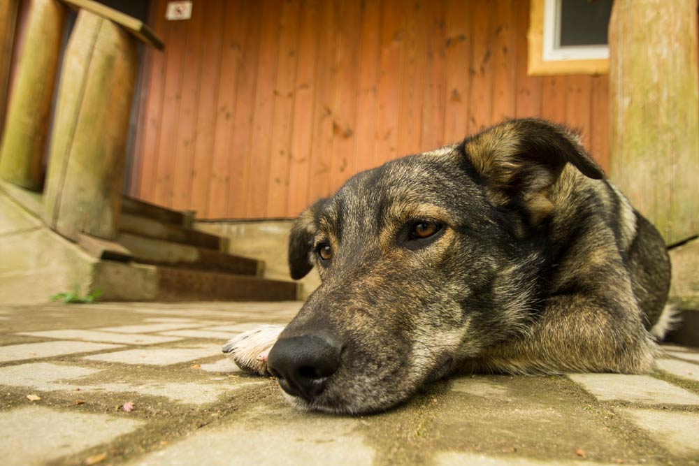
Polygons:
<instances>
[{"instance_id":1,"label":"black nose of the resting dog","mask_svg":"<svg viewBox=\"0 0 699 466\"><path fill-rule=\"evenodd\" d=\"M267 358L267 370L289 395L310 401L340 367L340 347L318 335L278 340Z\"/></svg>"}]
</instances>

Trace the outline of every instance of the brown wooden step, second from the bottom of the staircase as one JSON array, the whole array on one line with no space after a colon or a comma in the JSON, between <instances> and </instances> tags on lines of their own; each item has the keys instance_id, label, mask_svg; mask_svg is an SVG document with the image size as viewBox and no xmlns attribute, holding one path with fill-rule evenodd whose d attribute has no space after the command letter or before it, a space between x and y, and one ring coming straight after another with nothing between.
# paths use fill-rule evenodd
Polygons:
<instances>
[{"instance_id":1,"label":"brown wooden step, second from the bottom of the staircase","mask_svg":"<svg viewBox=\"0 0 699 466\"><path fill-rule=\"evenodd\" d=\"M264 262L256 259L133 233L120 233L117 242L129 249L134 261L140 263L253 276L261 276L264 269Z\"/></svg>"}]
</instances>

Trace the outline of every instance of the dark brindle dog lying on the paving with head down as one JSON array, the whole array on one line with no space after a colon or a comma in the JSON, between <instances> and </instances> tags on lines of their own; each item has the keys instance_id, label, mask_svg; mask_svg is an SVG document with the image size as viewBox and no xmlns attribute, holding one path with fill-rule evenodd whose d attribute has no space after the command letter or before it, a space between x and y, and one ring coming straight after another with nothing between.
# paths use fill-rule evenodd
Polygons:
<instances>
[{"instance_id":1,"label":"dark brindle dog lying on the paving with head down","mask_svg":"<svg viewBox=\"0 0 699 466\"><path fill-rule=\"evenodd\" d=\"M352 177L289 237L319 288L224 346L297 407L365 414L455 373L654 370L672 321L656 228L574 133L512 119Z\"/></svg>"}]
</instances>

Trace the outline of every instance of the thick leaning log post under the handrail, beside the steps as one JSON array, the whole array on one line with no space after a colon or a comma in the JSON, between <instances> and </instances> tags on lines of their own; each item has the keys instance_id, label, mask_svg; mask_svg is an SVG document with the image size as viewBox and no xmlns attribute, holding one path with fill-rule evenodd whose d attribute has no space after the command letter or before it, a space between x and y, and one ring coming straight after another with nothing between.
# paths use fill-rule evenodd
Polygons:
<instances>
[{"instance_id":1,"label":"thick leaning log post under the handrail, beside the steps","mask_svg":"<svg viewBox=\"0 0 699 466\"><path fill-rule=\"evenodd\" d=\"M73 240L117 236L136 38L115 22L80 10L66 49L44 203L46 222Z\"/></svg>"}]
</instances>

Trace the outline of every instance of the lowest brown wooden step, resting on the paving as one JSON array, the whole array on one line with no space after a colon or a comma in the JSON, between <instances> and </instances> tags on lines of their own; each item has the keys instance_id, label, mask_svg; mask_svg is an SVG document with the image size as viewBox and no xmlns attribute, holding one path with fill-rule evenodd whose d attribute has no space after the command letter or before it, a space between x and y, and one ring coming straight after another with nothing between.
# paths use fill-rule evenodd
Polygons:
<instances>
[{"instance_id":1,"label":"lowest brown wooden step, resting on the paving","mask_svg":"<svg viewBox=\"0 0 699 466\"><path fill-rule=\"evenodd\" d=\"M299 296L294 282L187 268L157 269L159 301L288 301Z\"/></svg>"}]
</instances>

